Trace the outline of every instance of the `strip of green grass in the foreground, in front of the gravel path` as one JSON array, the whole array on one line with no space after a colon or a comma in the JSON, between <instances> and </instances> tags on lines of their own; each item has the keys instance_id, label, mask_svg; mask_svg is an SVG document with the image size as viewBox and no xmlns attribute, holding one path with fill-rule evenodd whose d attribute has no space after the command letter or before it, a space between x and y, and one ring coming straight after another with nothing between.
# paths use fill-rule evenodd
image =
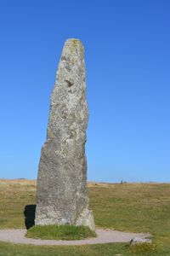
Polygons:
<instances>
[{"instance_id":1,"label":"strip of green grass in the foreground, in front of the gravel path","mask_svg":"<svg viewBox=\"0 0 170 256\"><path fill-rule=\"evenodd\" d=\"M88 246L31 246L0 242L1 256L169 256L166 249L155 246L130 247L122 243L108 243Z\"/></svg>"}]
</instances>

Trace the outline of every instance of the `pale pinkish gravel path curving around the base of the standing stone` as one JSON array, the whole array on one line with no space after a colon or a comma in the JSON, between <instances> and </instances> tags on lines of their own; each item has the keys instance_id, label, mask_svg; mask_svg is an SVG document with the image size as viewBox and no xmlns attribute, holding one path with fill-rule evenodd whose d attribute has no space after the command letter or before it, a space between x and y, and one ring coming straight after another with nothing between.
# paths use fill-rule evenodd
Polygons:
<instances>
[{"instance_id":1,"label":"pale pinkish gravel path curving around the base of the standing stone","mask_svg":"<svg viewBox=\"0 0 170 256\"><path fill-rule=\"evenodd\" d=\"M0 230L0 241L8 241L13 243L24 243L33 245L85 245L108 242L127 242L133 237L144 238L149 234L125 233L115 230L96 230L97 237L88 238L86 240L77 241L55 241L26 238L26 230Z\"/></svg>"}]
</instances>

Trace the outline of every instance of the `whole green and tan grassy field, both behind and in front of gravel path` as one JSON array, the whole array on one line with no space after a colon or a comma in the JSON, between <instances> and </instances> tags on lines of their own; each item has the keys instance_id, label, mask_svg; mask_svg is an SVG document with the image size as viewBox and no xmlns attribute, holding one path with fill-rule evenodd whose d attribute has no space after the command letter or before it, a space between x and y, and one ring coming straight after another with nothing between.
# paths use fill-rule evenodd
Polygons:
<instances>
[{"instance_id":1,"label":"whole green and tan grassy field, both behind and in front of gravel path","mask_svg":"<svg viewBox=\"0 0 170 256\"><path fill-rule=\"evenodd\" d=\"M0 255L170 256L170 184L89 183L88 190L96 226L150 232L154 236L153 246L129 247L122 243L81 247L36 247L0 242ZM35 209L35 195L35 181L0 180L0 229L29 226Z\"/></svg>"}]
</instances>

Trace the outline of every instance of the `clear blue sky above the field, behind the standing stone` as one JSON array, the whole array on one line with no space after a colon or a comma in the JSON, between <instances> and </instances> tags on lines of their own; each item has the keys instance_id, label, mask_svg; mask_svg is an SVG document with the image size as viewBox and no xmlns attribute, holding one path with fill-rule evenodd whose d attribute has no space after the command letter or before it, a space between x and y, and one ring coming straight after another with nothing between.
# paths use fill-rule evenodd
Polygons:
<instances>
[{"instance_id":1,"label":"clear blue sky above the field, behind the standing stone","mask_svg":"<svg viewBox=\"0 0 170 256\"><path fill-rule=\"evenodd\" d=\"M0 177L37 177L61 49L86 49L88 180L170 182L170 1L0 1Z\"/></svg>"}]
</instances>

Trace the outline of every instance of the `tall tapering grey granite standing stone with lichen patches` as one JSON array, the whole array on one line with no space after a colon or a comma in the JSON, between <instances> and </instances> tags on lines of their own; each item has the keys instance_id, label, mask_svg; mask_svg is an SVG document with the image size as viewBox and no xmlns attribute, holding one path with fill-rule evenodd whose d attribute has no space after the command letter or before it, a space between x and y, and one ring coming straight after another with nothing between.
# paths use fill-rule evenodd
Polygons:
<instances>
[{"instance_id":1,"label":"tall tapering grey granite standing stone with lichen patches","mask_svg":"<svg viewBox=\"0 0 170 256\"><path fill-rule=\"evenodd\" d=\"M88 210L87 125L84 50L80 40L68 39L51 95L37 178L35 224L85 225L94 230L93 213Z\"/></svg>"}]
</instances>

